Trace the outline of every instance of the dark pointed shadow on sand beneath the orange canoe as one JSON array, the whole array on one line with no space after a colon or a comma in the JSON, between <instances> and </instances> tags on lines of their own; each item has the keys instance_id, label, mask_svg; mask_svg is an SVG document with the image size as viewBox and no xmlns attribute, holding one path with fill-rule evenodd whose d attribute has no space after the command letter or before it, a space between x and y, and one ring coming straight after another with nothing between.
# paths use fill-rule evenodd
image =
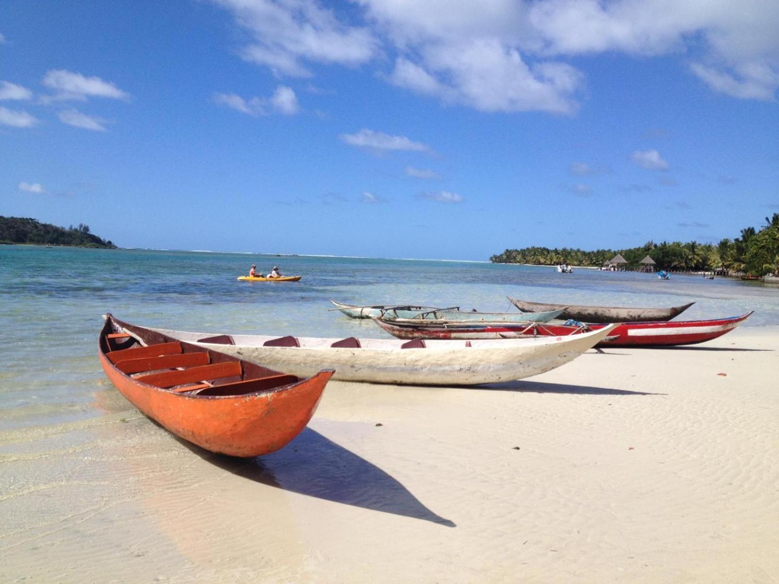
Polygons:
<instances>
[{"instance_id":1,"label":"dark pointed shadow on sand beneath the orange canoe","mask_svg":"<svg viewBox=\"0 0 779 584\"><path fill-rule=\"evenodd\" d=\"M425 507L390 474L309 427L283 449L255 459L214 454L179 442L221 469L270 487L456 527Z\"/></svg>"}]
</instances>

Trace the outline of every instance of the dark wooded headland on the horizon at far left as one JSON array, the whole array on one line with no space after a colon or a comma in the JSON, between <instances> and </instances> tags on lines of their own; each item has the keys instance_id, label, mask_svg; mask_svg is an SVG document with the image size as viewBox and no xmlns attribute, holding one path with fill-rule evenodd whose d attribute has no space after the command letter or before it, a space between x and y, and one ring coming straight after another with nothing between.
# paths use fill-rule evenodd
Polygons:
<instances>
[{"instance_id":1,"label":"dark wooded headland on the horizon at far left","mask_svg":"<svg viewBox=\"0 0 779 584\"><path fill-rule=\"evenodd\" d=\"M77 248L116 249L112 241L101 239L90 233L90 227L79 223L57 227L51 223L41 223L30 217L4 217L0 215L0 244L27 245L70 245Z\"/></svg>"}]
</instances>

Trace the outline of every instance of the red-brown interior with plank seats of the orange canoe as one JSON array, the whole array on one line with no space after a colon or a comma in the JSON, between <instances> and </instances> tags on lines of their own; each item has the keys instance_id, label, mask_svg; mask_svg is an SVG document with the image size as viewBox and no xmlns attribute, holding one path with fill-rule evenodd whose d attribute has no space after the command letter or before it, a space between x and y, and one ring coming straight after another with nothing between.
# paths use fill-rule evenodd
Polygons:
<instances>
[{"instance_id":1,"label":"red-brown interior with plank seats of the orange canoe","mask_svg":"<svg viewBox=\"0 0 779 584\"><path fill-rule=\"evenodd\" d=\"M100 352L133 381L187 396L246 396L301 381L294 375L185 343L110 315L100 333Z\"/></svg>"}]
</instances>

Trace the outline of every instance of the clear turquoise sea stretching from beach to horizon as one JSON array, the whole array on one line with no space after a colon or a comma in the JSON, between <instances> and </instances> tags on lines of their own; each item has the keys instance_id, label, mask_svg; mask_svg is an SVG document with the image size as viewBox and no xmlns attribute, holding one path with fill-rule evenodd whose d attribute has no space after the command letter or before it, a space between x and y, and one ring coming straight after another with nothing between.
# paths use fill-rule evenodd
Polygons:
<instances>
[{"instance_id":1,"label":"clear turquoise sea stretching from beach to horizon","mask_svg":"<svg viewBox=\"0 0 779 584\"><path fill-rule=\"evenodd\" d=\"M262 273L278 266L284 275L303 277L236 280L252 263ZM347 318L330 300L515 311L507 296L639 307L695 301L677 319L755 311L745 326L779 325L779 287L720 277L658 280L651 273L561 274L489 262L0 245L0 432L77 423L126 407L97 360L101 315L109 312L168 329L381 338L388 333Z\"/></svg>"}]
</instances>

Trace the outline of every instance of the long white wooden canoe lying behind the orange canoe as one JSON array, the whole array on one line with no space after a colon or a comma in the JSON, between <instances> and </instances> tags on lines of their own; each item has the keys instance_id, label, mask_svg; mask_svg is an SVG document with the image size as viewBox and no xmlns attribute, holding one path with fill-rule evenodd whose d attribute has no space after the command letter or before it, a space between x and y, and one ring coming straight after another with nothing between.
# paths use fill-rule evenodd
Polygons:
<instances>
[{"instance_id":1,"label":"long white wooden canoe lying behind the orange canoe","mask_svg":"<svg viewBox=\"0 0 779 584\"><path fill-rule=\"evenodd\" d=\"M334 379L352 382L474 385L521 379L559 367L593 347L609 330L569 338L472 342L157 332L295 375L309 375L326 366L335 368Z\"/></svg>"}]
</instances>

